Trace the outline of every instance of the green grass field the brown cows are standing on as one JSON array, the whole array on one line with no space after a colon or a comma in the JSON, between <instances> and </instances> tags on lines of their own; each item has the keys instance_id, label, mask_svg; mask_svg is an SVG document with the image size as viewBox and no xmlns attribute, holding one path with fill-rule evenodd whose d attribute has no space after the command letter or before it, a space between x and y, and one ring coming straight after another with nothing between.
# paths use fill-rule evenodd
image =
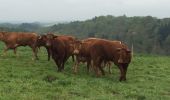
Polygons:
<instances>
[{"instance_id":1,"label":"green grass field the brown cows are standing on","mask_svg":"<svg viewBox=\"0 0 170 100\"><path fill-rule=\"evenodd\" d=\"M2 51L2 44L0 46ZM119 82L119 70L95 77L81 65L72 73L70 59L65 71L47 61L45 49L32 60L30 48L18 48L18 56L8 51L0 56L0 100L170 100L170 57L136 55L128 67L127 81ZM48 77L55 80L48 81Z\"/></svg>"}]
</instances>

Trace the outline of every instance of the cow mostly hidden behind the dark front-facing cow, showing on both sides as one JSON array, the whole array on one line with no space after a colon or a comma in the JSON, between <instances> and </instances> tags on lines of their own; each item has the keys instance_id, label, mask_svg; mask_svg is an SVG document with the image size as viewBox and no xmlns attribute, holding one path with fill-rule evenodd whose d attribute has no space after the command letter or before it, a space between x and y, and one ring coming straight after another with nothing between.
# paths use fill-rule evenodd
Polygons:
<instances>
[{"instance_id":1,"label":"cow mostly hidden behind the dark front-facing cow, showing on both sides","mask_svg":"<svg viewBox=\"0 0 170 100\"><path fill-rule=\"evenodd\" d=\"M69 36L69 35L54 35L52 33L48 33L49 35L52 35L55 38L61 40L64 42L67 50L66 50L66 55L68 55L68 57L72 56L72 59L74 61L74 55L73 55L73 47L72 47L72 43L76 40L75 37L73 36ZM48 35L47 34L47 35ZM46 35L41 35L39 38L38 38L38 42L37 42L37 46L38 47L41 47L41 46L44 46L47 50L47 53L48 53L48 61L50 60L50 57L51 57L51 51L50 49L46 46Z\"/></svg>"}]
</instances>

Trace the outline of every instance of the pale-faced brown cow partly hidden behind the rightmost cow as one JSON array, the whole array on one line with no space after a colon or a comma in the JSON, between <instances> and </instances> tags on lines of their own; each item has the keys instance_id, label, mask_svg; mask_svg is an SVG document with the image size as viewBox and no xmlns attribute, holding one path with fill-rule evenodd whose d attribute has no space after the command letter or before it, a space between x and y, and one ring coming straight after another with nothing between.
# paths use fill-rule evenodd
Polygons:
<instances>
[{"instance_id":1,"label":"pale-faced brown cow partly hidden behind the rightmost cow","mask_svg":"<svg viewBox=\"0 0 170 100\"><path fill-rule=\"evenodd\" d=\"M80 62L87 62L87 72L89 72L89 68L91 66L91 63L90 63L90 52L89 52L89 48L90 48L90 45L95 42L95 41L98 41L99 38L87 38L87 39L84 39L84 40L77 40L75 43L74 43L74 54L76 55L76 62L73 66L73 71L74 73L77 73L77 68L80 64ZM103 40L103 39L100 39L100 40ZM118 42L120 43L120 41L113 41L113 42ZM109 67L109 73L111 73L110 69L111 69L111 63L109 61L103 61L103 67L104 66L108 66Z\"/></svg>"}]
</instances>

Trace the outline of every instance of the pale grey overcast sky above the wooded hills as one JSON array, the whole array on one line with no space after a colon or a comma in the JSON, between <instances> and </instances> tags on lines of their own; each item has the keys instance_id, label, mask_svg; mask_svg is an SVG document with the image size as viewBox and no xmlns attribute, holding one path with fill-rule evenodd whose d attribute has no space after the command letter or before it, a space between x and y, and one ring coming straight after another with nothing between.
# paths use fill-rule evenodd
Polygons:
<instances>
[{"instance_id":1,"label":"pale grey overcast sky above the wooded hills","mask_svg":"<svg viewBox=\"0 0 170 100\"><path fill-rule=\"evenodd\" d=\"M170 17L170 0L0 0L0 22L73 21L124 14Z\"/></svg>"}]
</instances>

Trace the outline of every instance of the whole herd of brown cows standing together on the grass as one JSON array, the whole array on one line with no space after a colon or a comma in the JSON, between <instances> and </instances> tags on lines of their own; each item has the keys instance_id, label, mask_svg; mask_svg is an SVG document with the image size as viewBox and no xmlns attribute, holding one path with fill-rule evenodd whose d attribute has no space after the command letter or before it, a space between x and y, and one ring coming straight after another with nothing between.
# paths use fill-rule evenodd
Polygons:
<instances>
[{"instance_id":1,"label":"whole herd of brown cows standing together on the grass","mask_svg":"<svg viewBox=\"0 0 170 100\"><path fill-rule=\"evenodd\" d=\"M36 60L38 48L45 47L48 60L52 58L55 61L59 72L64 70L64 64L69 57L74 61L74 73L77 73L80 62L86 62L87 72L92 69L96 76L105 75L103 67L113 62L120 70L119 80L125 81L127 68L131 62L131 51L121 41L100 38L78 40L68 35L52 33L38 35L31 32L0 32L0 41L6 46L4 55L8 49L13 49L16 54L18 46L29 46Z\"/></svg>"}]
</instances>

